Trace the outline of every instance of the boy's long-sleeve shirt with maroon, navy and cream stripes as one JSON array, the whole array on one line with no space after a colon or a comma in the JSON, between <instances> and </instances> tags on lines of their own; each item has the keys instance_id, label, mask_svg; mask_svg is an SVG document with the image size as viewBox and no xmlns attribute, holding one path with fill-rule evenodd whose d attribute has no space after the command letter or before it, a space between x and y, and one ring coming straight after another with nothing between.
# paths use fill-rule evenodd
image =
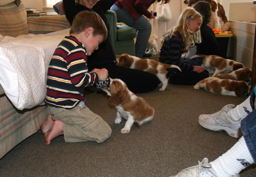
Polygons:
<instances>
[{"instance_id":1,"label":"boy's long-sleeve shirt with maroon, navy and cream stripes","mask_svg":"<svg viewBox=\"0 0 256 177\"><path fill-rule=\"evenodd\" d=\"M98 82L96 73L88 73L86 49L74 36L66 36L56 48L47 73L49 106L71 109L84 100L84 87Z\"/></svg>"}]
</instances>

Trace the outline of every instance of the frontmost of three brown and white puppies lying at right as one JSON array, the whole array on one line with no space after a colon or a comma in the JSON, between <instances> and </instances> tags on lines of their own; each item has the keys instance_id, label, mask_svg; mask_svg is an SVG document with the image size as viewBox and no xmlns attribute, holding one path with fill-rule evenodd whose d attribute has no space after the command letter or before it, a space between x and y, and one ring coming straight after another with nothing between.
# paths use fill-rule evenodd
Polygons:
<instances>
[{"instance_id":1,"label":"frontmost of three brown and white puppies lying at right","mask_svg":"<svg viewBox=\"0 0 256 177\"><path fill-rule=\"evenodd\" d=\"M229 96L242 96L250 92L250 87L245 81L233 81L217 77L205 78L199 81L194 88L203 88L212 93Z\"/></svg>"}]
</instances>

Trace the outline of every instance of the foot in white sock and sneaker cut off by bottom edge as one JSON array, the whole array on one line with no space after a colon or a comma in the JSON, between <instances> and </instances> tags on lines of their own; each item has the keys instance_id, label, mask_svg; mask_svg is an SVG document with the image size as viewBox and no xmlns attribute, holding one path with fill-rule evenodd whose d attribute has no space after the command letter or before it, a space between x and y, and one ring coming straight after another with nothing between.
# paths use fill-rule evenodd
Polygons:
<instances>
[{"instance_id":1,"label":"foot in white sock and sneaker cut off by bottom edge","mask_svg":"<svg viewBox=\"0 0 256 177\"><path fill-rule=\"evenodd\" d=\"M251 157L250 151L246 146L243 137L232 146L225 154L218 157L213 162L208 163L204 158L199 165L181 170L174 177L185 176L211 176L211 177L235 177L247 166L255 163Z\"/></svg>"}]
</instances>

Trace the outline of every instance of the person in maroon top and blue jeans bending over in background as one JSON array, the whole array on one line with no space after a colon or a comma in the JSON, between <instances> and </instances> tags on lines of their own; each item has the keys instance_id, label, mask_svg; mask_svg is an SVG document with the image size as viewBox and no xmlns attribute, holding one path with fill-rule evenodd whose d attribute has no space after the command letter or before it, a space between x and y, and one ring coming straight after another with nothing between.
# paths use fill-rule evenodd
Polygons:
<instances>
[{"instance_id":1,"label":"person in maroon top and blue jeans bending over in background","mask_svg":"<svg viewBox=\"0 0 256 177\"><path fill-rule=\"evenodd\" d=\"M154 12L148 11L148 8L155 1L156 0L118 0L110 8L110 10L115 11L119 21L129 27L137 29L135 55L139 58L143 58L151 34L151 24L144 16L149 19L155 18ZM170 0L157 1L168 3Z\"/></svg>"}]
</instances>

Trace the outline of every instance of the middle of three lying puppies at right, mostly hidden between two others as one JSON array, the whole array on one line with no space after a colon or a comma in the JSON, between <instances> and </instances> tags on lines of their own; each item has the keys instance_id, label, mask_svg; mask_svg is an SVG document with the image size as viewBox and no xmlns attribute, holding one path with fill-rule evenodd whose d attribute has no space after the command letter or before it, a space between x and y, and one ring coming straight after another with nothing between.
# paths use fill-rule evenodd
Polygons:
<instances>
[{"instance_id":1,"label":"middle of three lying puppies at right, mostly hidden between two others","mask_svg":"<svg viewBox=\"0 0 256 177\"><path fill-rule=\"evenodd\" d=\"M251 81L251 69L250 68L240 68L238 70L232 71L228 74L216 74L215 77L220 79L232 79L236 81Z\"/></svg>"}]
</instances>

